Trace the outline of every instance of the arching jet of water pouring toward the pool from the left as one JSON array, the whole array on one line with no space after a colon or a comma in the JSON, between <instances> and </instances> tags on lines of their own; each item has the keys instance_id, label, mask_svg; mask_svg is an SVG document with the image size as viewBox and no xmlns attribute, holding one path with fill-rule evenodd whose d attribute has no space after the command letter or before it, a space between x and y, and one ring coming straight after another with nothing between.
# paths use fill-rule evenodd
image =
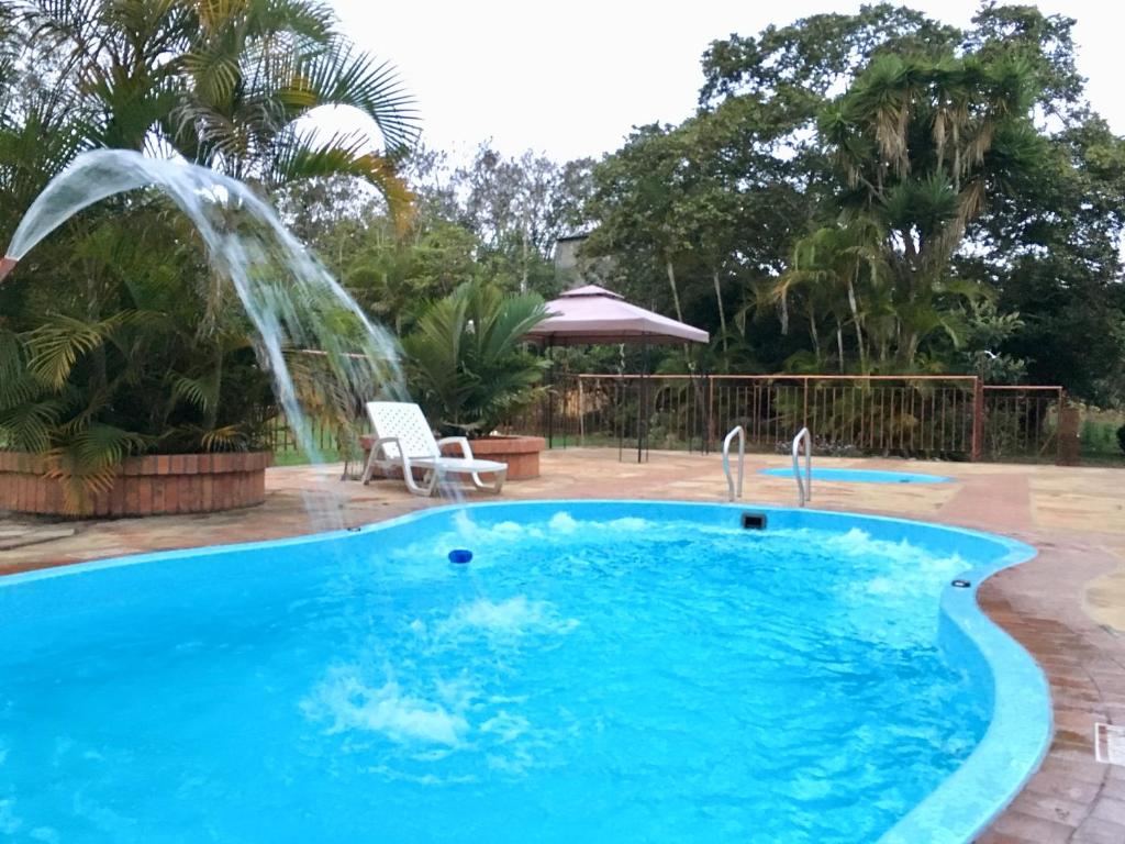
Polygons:
<instances>
[{"instance_id":1,"label":"arching jet of water pouring toward the pool from the left","mask_svg":"<svg viewBox=\"0 0 1125 844\"><path fill-rule=\"evenodd\" d=\"M212 266L230 279L256 330L259 356L274 396L302 450L321 464L320 450L294 386L288 352L315 349L350 393L405 397L395 343L282 225L273 208L241 181L182 161L129 150L78 155L36 197L0 261L2 280L65 221L110 196L155 188L192 222ZM343 323L341 322L343 318ZM346 330L342 325L348 325ZM326 481L326 476L322 481ZM336 495L316 506L321 527L343 527Z\"/></svg>"}]
</instances>

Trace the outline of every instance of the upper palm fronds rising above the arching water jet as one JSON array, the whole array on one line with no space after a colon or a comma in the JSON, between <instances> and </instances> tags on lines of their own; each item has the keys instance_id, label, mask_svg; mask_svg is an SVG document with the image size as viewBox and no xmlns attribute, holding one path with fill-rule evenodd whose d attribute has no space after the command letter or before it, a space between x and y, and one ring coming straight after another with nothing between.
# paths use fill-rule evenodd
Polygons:
<instances>
[{"instance_id":1,"label":"upper palm fronds rising above the arching water jet","mask_svg":"<svg viewBox=\"0 0 1125 844\"><path fill-rule=\"evenodd\" d=\"M314 0L27 0L18 9L37 52L71 99L90 146L181 155L276 188L348 174L394 208L410 194L397 158L417 134L394 69L358 50ZM322 138L322 107L356 109L378 126L384 152L360 133Z\"/></svg>"}]
</instances>

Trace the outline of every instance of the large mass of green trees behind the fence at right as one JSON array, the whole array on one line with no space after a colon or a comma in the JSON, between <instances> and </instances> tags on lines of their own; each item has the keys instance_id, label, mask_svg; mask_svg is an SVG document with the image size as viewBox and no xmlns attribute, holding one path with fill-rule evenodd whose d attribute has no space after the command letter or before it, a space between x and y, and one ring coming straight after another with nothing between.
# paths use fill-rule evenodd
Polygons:
<instances>
[{"instance_id":1,"label":"large mass of green trees behind the fence at right","mask_svg":"<svg viewBox=\"0 0 1125 844\"><path fill-rule=\"evenodd\" d=\"M1125 143L1083 98L1072 26L880 5L716 42L699 113L594 168L586 255L717 332L724 369L987 353L996 377L1120 402Z\"/></svg>"}]
</instances>

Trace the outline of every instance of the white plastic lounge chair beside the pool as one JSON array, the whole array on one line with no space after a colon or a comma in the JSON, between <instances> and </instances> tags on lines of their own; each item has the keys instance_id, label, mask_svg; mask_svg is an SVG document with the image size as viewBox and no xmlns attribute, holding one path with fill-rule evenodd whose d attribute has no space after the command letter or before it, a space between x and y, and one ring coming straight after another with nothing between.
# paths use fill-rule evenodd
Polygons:
<instances>
[{"instance_id":1,"label":"white plastic lounge chair beside the pool","mask_svg":"<svg viewBox=\"0 0 1125 844\"><path fill-rule=\"evenodd\" d=\"M478 460L472 457L472 448L465 437L433 438L430 423L422 408L408 402L368 402L367 415L375 429L375 442L363 468L363 483L371 479L372 469L378 466L386 470L399 468L406 487L415 495L433 495L438 483L446 475L468 475L478 490L500 493L507 477L507 464L495 460ZM461 457L446 457L441 447L458 446ZM425 477L418 484L414 479L414 468L425 469ZM480 475L492 475L486 484Z\"/></svg>"}]
</instances>

